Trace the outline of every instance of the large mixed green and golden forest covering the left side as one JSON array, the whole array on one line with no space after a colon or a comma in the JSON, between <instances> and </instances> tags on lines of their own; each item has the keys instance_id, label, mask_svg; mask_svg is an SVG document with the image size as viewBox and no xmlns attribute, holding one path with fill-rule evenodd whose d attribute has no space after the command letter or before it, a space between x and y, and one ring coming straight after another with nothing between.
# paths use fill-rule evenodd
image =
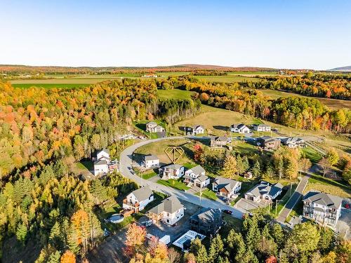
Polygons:
<instances>
[{"instance_id":1,"label":"large mixed green and golden forest covering the left side","mask_svg":"<svg viewBox=\"0 0 351 263\"><path fill-rule=\"evenodd\" d=\"M84 257L102 236L94 211L136 185L118 174L82 181L72 173L74 162L119 140L132 121L173 123L197 114L200 105L160 100L150 80L72 89L20 89L1 82L1 246L15 236L21 251L43 248L37 262L58 262L65 250Z\"/></svg>"}]
</instances>

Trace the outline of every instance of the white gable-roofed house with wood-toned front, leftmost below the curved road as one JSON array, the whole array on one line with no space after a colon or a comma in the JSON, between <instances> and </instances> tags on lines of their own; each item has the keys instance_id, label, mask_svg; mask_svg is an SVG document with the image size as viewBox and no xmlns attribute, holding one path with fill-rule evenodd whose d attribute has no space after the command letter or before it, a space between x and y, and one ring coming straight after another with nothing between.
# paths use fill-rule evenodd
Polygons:
<instances>
[{"instance_id":1,"label":"white gable-roofed house with wood-toned front, leftmost below the curved road","mask_svg":"<svg viewBox=\"0 0 351 263\"><path fill-rule=\"evenodd\" d=\"M140 187L126 196L123 201L123 208L138 213L152 201L154 201L154 193L151 189L149 187Z\"/></svg>"}]
</instances>

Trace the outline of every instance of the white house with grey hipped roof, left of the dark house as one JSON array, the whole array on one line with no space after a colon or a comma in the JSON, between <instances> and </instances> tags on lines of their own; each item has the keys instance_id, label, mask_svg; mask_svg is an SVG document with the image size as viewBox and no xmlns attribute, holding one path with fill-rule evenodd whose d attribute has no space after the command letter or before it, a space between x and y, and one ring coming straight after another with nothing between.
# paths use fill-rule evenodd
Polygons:
<instances>
[{"instance_id":1,"label":"white house with grey hipped roof, left of the dark house","mask_svg":"<svg viewBox=\"0 0 351 263\"><path fill-rule=\"evenodd\" d=\"M184 205L176 196L170 196L149 211L150 219L173 226L184 216Z\"/></svg>"}]
</instances>

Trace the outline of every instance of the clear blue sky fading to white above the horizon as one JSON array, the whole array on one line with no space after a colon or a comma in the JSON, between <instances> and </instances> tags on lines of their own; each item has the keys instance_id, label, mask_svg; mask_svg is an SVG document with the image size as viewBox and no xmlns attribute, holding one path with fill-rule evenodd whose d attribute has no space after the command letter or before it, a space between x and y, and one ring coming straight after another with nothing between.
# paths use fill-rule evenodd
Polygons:
<instances>
[{"instance_id":1,"label":"clear blue sky fading to white above the horizon","mask_svg":"<svg viewBox=\"0 0 351 263\"><path fill-rule=\"evenodd\" d=\"M1 0L0 34L0 64L330 69L351 1Z\"/></svg>"}]
</instances>

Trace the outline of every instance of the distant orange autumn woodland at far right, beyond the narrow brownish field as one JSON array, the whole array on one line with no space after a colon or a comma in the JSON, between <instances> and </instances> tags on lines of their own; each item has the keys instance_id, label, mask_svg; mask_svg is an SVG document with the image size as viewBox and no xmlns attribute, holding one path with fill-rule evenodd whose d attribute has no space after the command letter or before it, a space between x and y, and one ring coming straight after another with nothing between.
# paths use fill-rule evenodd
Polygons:
<instances>
[{"instance_id":1,"label":"distant orange autumn woodland at far right, beyond the narrow brownish field","mask_svg":"<svg viewBox=\"0 0 351 263\"><path fill-rule=\"evenodd\" d=\"M304 76L265 77L263 81L249 83L250 88L283 90L312 97L351 100L351 76L312 74Z\"/></svg>"}]
</instances>

